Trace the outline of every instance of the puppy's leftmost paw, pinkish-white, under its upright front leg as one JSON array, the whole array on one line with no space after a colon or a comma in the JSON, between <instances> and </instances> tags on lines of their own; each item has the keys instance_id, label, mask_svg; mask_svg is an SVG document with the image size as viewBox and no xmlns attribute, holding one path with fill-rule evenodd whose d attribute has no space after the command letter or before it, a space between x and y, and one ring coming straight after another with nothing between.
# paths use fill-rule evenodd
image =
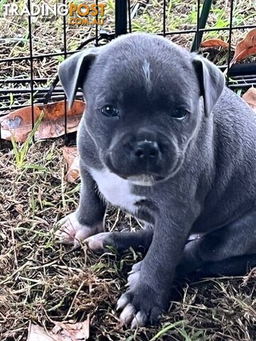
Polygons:
<instances>
[{"instance_id":1,"label":"puppy's leftmost paw, pinkish-white, under its upright front leg","mask_svg":"<svg viewBox=\"0 0 256 341\"><path fill-rule=\"evenodd\" d=\"M74 244L77 247L80 240L87 239L91 235L102 231L104 231L103 223L95 226L81 224L77 220L76 212L72 212L57 223L55 236L64 244Z\"/></svg>"}]
</instances>

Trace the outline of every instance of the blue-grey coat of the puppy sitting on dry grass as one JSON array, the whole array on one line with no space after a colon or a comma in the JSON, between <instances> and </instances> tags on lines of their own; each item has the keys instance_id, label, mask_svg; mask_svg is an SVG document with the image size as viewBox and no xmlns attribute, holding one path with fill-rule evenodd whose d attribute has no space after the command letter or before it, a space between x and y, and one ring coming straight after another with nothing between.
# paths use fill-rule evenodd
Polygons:
<instances>
[{"instance_id":1,"label":"blue-grey coat of the puppy sitting on dry grass","mask_svg":"<svg viewBox=\"0 0 256 341\"><path fill-rule=\"evenodd\" d=\"M148 250L119 300L123 322L154 322L176 271L236 272L256 260L256 116L216 66L165 38L132 34L73 55L59 75L70 106L77 87L87 100L76 212L86 237L106 201L148 226L88 239ZM106 117L106 105L118 115Z\"/></svg>"}]
</instances>

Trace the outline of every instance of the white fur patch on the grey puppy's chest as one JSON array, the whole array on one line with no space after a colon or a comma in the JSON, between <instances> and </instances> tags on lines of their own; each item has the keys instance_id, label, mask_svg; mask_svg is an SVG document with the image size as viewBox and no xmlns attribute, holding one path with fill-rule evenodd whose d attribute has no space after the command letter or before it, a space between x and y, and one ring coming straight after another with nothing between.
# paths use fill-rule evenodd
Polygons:
<instances>
[{"instance_id":1,"label":"white fur patch on the grey puppy's chest","mask_svg":"<svg viewBox=\"0 0 256 341\"><path fill-rule=\"evenodd\" d=\"M128 180L120 178L108 169L97 171L91 168L90 173L96 181L100 193L108 202L113 206L122 207L128 212L136 212L138 208L135 206L135 202L142 200L143 197L131 193L132 185Z\"/></svg>"}]
</instances>

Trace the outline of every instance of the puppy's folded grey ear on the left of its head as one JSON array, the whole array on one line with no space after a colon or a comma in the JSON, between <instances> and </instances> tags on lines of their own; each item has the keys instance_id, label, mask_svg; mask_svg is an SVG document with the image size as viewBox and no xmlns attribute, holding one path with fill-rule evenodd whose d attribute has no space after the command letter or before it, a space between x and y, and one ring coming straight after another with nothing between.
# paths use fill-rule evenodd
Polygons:
<instances>
[{"instance_id":1,"label":"puppy's folded grey ear on the left of its head","mask_svg":"<svg viewBox=\"0 0 256 341\"><path fill-rule=\"evenodd\" d=\"M89 67L94 63L97 52L96 48L89 48L88 50L75 53L60 64L58 74L67 95L69 108L72 107L77 89L82 87Z\"/></svg>"}]
</instances>

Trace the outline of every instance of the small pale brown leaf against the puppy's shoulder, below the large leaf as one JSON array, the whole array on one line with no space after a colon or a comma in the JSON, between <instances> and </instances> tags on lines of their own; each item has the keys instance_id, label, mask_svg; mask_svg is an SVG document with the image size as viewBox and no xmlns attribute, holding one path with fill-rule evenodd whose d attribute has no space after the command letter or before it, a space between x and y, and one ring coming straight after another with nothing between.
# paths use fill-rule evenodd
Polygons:
<instances>
[{"instance_id":1,"label":"small pale brown leaf against the puppy's shoulder, below the large leaf","mask_svg":"<svg viewBox=\"0 0 256 341\"><path fill-rule=\"evenodd\" d=\"M74 183L79 178L79 156L77 147L65 146L62 148L62 152L68 167L65 178L69 183Z\"/></svg>"}]
</instances>

